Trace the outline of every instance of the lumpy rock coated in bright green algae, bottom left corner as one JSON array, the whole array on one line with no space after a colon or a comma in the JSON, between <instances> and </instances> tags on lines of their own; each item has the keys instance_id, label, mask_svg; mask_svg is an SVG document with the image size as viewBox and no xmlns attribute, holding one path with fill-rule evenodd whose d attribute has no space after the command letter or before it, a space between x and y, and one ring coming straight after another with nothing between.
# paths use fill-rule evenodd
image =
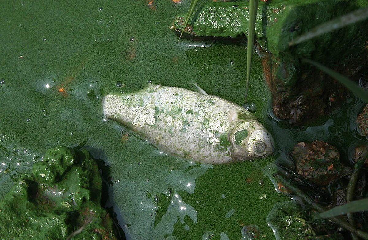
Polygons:
<instances>
[{"instance_id":1,"label":"lumpy rock coated in bright green algae, bottom left corner","mask_svg":"<svg viewBox=\"0 0 368 240\"><path fill-rule=\"evenodd\" d=\"M117 239L100 205L102 179L87 150L54 147L0 201L7 239Z\"/></svg>"}]
</instances>

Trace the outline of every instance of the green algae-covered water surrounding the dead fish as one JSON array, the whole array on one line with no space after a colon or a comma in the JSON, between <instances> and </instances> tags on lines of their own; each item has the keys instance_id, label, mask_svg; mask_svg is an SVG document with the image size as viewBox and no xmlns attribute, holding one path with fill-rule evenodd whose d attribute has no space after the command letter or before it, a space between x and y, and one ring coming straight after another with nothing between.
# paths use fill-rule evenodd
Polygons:
<instances>
[{"instance_id":1,"label":"green algae-covered water surrounding the dead fish","mask_svg":"<svg viewBox=\"0 0 368 240\"><path fill-rule=\"evenodd\" d=\"M265 171L268 166L301 141L318 138L337 145L342 155L352 151L351 144L363 141L353 121L363 104L352 96L313 126L290 129L270 117L270 93L254 54L248 101L273 134L276 157L199 165L161 153L105 121L104 94L135 92L149 79L192 90L195 82L209 94L243 103L245 46L185 39L177 44L168 26L188 6L189 1L169 0L155 0L151 7L145 0L2 4L0 197L46 149L88 139L93 157L111 166L107 205L114 207L128 239L202 239L210 232L212 240L221 232L240 239L241 229L250 224L259 226L266 235L262 239L275 238L266 217L275 203L288 198L263 172L272 173Z\"/></svg>"}]
</instances>

